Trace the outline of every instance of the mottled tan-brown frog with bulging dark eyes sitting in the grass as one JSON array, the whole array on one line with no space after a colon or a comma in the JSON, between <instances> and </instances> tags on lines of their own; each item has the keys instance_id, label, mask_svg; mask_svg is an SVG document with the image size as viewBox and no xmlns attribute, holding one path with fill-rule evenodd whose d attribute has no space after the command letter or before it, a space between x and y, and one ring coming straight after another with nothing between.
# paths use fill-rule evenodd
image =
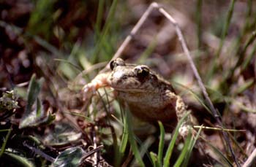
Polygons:
<instances>
[{"instance_id":1,"label":"mottled tan-brown frog with bulging dark eyes sitting in the grass","mask_svg":"<svg viewBox=\"0 0 256 167\"><path fill-rule=\"evenodd\" d=\"M148 123L159 120L164 125L173 126L187 113L186 104L170 82L148 66L125 63L121 58L110 61L109 66L109 72L98 74L84 85L85 99L99 88L110 87L123 106ZM187 125L189 119L179 129L180 133L188 133Z\"/></svg>"}]
</instances>

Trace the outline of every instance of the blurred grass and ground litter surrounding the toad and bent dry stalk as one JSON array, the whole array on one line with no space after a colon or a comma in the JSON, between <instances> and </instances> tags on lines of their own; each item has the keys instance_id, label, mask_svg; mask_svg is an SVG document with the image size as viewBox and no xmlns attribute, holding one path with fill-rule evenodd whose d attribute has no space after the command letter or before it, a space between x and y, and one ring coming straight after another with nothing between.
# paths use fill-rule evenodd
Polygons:
<instances>
[{"instance_id":1,"label":"blurred grass and ground litter surrounding the toad and bent dry stalk","mask_svg":"<svg viewBox=\"0 0 256 167\"><path fill-rule=\"evenodd\" d=\"M123 133L129 128L124 128L118 102L103 97L101 105L96 103L99 99L85 105L80 93L110 61L151 2L0 0L0 166L46 166L54 160L53 166L59 166L70 162L67 155L72 151L70 156L78 158L74 166L92 166L94 155L87 159L84 155L100 145L102 166L157 166L148 152L159 150L158 132L135 130L141 163L135 149L129 149L134 142ZM246 130L230 133L242 164L256 147L255 1L157 2L181 27L225 128ZM132 37L121 58L158 71L173 83L199 125L216 126L170 22L154 10ZM196 159L197 166L234 164L222 136L217 131L205 133L222 158L202 157ZM164 150L169 142L165 139ZM181 152L178 146L172 165ZM208 147L206 152L212 150Z\"/></svg>"}]
</instances>

